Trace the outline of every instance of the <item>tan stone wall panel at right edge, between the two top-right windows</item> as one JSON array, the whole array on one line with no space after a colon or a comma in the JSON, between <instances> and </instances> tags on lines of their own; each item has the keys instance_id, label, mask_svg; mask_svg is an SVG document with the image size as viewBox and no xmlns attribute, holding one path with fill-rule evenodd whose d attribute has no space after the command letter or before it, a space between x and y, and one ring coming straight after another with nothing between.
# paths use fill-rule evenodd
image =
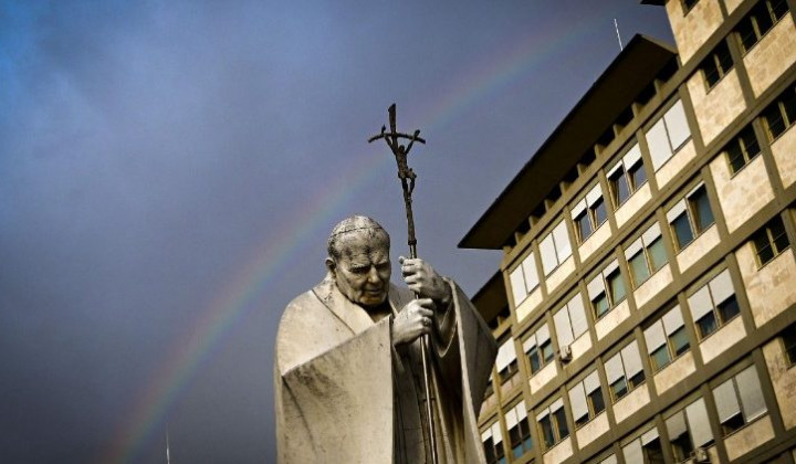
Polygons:
<instances>
[{"instance_id":1,"label":"tan stone wall panel at right edge, between the two top-right windows","mask_svg":"<svg viewBox=\"0 0 796 464\"><path fill-rule=\"evenodd\" d=\"M796 30L790 14L766 33L743 59L755 96L796 62Z\"/></svg>"}]
</instances>

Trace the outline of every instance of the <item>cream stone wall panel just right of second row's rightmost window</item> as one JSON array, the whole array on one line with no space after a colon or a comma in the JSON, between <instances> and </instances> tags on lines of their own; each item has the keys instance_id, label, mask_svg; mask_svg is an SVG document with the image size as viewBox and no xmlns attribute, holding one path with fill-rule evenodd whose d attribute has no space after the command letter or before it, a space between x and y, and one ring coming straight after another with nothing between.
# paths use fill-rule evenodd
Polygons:
<instances>
[{"instance_id":1,"label":"cream stone wall panel just right of second row's rightmost window","mask_svg":"<svg viewBox=\"0 0 796 464\"><path fill-rule=\"evenodd\" d=\"M774 190L761 156L732 176L726 156L721 152L710 162L710 171L730 233L774 199Z\"/></svg>"}]
</instances>

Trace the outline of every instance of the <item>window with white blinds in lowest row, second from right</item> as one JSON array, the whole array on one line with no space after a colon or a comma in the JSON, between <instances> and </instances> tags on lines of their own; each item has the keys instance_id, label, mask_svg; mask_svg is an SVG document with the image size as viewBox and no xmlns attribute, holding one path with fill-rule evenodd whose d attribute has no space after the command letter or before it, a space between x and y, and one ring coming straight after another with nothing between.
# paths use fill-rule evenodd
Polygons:
<instances>
[{"instance_id":1,"label":"window with white blinds in lowest row, second from right","mask_svg":"<svg viewBox=\"0 0 796 464\"><path fill-rule=\"evenodd\" d=\"M713 443L708 409L702 398L667 419L666 424L677 462L689 460L694 447L704 447Z\"/></svg>"}]
</instances>

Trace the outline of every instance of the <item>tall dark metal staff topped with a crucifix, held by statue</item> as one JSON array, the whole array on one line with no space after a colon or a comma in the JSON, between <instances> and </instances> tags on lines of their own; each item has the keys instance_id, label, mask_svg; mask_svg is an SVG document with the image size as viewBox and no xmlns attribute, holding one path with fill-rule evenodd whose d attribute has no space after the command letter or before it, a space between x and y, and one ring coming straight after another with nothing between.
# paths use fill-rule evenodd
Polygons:
<instances>
[{"instance_id":1,"label":"tall dark metal staff topped with a crucifix, held by statue","mask_svg":"<svg viewBox=\"0 0 796 464\"><path fill-rule=\"evenodd\" d=\"M392 155L395 155L396 162L398 162L398 179L400 179L401 187L404 189L404 205L406 207L407 213L409 257L415 259L417 257L417 238L415 236L415 215L412 214L411 209L411 193L415 190L415 179L417 178L417 175L407 164L407 156L409 155L409 150L411 150L411 147L412 145L415 145L416 141L426 144L426 140L419 137L420 130L415 130L415 134L408 135L399 133L396 129L395 103L390 105L387 112L389 113L390 131L387 131L386 126L381 126L381 133L377 136L370 137L368 139L368 143L384 138L387 143L387 146L392 151ZM409 145L400 145L399 139L401 138L408 139ZM417 294L415 296L417 297ZM428 338L429 336L425 335L420 341L420 355L422 357L423 390L426 393L426 416L428 418L428 421L426 423L428 424L428 434L431 445L431 461L433 462L433 464L437 464L439 460L437 457L437 436L434 434L433 413L431 412L431 386L429 380L430 372L427 355Z\"/></svg>"}]
</instances>

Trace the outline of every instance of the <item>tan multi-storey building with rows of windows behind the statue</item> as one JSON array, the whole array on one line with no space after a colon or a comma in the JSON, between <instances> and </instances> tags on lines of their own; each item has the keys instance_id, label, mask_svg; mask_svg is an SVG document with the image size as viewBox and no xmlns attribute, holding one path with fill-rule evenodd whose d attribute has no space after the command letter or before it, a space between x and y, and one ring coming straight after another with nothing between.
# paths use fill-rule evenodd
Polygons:
<instances>
[{"instance_id":1,"label":"tan multi-storey building with rows of windows behind the statue","mask_svg":"<svg viewBox=\"0 0 796 464\"><path fill-rule=\"evenodd\" d=\"M503 251L490 462L796 462L796 1L647 3L677 50L633 38L460 243Z\"/></svg>"}]
</instances>

